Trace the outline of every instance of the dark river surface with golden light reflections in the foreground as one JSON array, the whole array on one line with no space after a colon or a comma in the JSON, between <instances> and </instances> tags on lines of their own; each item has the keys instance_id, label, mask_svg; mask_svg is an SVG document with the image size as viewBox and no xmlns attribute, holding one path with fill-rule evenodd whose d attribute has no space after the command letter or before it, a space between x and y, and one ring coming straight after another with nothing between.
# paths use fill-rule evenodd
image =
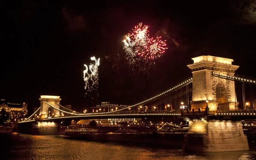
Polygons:
<instances>
[{"instance_id":1,"label":"dark river surface with golden light reflections in the foreground","mask_svg":"<svg viewBox=\"0 0 256 160\"><path fill-rule=\"evenodd\" d=\"M0 160L256 160L255 135L250 151L186 154L182 134L0 134Z\"/></svg>"}]
</instances>

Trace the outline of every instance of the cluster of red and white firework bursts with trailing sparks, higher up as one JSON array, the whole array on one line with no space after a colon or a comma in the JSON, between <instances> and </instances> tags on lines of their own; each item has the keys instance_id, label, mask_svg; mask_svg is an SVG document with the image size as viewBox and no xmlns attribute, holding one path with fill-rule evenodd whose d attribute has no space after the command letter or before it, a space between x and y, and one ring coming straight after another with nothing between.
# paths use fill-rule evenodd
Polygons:
<instances>
[{"instance_id":1,"label":"cluster of red and white firework bursts with trailing sparks, higher up","mask_svg":"<svg viewBox=\"0 0 256 160\"><path fill-rule=\"evenodd\" d=\"M123 49L132 75L140 75L140 72L148 75L153 60L160 57L167 49L165 41L160 40L161 37L155 40L149 37L148 27L139 23L132 29L131 34L124 36Z\"/></svg>"}]
</instances>

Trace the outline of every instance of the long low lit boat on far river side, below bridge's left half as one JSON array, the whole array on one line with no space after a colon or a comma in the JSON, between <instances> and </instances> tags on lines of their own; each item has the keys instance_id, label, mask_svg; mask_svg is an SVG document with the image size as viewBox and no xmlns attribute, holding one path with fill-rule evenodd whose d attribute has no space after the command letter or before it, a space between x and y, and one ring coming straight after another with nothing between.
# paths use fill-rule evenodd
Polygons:
<instances>
[{"instance_id":1,"label":"long low lit boat on far river side, below bridge's left half","mask_svg":"<svg viewBox=\"0 0 256 160\"><path fill-rule=\"evenodd\" d=\"M100 129L81 128L81 129L65 129L65 135L78 135L78 134L95 134L101 133Z\"/></svg>"}]
</instances>

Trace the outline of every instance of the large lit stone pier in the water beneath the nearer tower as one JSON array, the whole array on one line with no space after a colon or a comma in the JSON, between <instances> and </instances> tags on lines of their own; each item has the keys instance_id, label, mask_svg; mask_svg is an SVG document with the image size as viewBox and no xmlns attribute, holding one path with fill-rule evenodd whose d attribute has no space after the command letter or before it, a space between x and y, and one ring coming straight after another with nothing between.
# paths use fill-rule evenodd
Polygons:
<instances>
[{"instance_id":1,"label":"large lit stone pier in the water beneath the nearer tower","mask_svg":"<svg viewBox=\"0 0 256 160\"><path fill-rule=\"evenodd\" d=\"M191 120L184 136L185 152L248 151L241 121Z\"/></svg>"}]
</instances>

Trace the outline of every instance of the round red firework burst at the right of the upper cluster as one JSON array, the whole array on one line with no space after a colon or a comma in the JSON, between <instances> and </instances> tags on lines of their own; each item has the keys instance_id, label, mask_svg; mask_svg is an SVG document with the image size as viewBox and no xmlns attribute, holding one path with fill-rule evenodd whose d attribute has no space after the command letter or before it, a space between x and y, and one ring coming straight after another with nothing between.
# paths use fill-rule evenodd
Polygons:
<instances>
[{"instance_id":1,"label":"round red firework burst at the right of the upper cluster","mask_svg":"<svg viewBox=\"0 0 256 160\"><path fill-rule=\"evenodd\" d=\"M165 41L160 40L161 37L157 37L156 39L149 38L147 43L144 45L144 51L138 53L144 59L154 59L160 57L166 48Z\"/></svg>"}]
</instances>

